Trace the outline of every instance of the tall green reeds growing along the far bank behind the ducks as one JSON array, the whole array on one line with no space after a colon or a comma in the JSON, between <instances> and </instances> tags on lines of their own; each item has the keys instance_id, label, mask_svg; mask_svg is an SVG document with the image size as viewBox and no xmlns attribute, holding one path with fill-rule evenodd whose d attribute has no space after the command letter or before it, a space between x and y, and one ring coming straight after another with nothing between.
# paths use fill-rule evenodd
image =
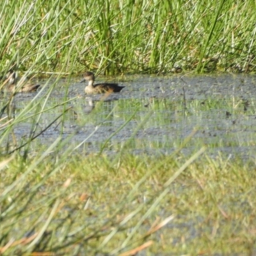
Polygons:
<instances>
[{"instance_id":1,"label":"tall green reeds growing along the far bank behind the ducks","mask_svg":"<svg viewBox=\"0 0 256 256\"><path fill-rule=\"evenodd\" d=\"M255 72L254 1L1 1L0 68Z\"/></svg>"}]
</instances>

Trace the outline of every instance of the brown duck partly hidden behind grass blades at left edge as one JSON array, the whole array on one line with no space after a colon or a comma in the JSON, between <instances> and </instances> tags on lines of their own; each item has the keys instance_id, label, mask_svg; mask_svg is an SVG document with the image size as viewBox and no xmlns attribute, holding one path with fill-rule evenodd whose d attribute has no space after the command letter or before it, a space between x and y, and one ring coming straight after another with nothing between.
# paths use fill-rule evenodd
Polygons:
<instances>
[{"instance_id":1,"label":"brown duck partly hidden behind grass blades at left edge","mask_svg":"<svg viewBox=\"0 0 256 256\"><path fill-rule=\"evenodd\" d=\"M8 92L36 92L36 90L40 87L40 84L33 84L29 81L26 81L27 79L24 80L25 81L23 81L22 86L19 88L19 90L16 91L18 83L17 72L9 70L6 76L4 76L3 90Z\"/></svg>"}]
</instances>

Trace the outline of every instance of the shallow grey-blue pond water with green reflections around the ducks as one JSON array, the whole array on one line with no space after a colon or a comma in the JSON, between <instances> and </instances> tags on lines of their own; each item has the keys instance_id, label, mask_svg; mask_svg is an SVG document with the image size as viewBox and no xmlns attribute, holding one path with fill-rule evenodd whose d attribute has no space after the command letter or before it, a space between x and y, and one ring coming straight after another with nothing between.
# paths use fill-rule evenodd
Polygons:
<instances>
[{"instance_id":1,"label":"shallow grey-blue pond water with green reflections around the ducks","mask_svg":"<svg viewBox=\"0 0 256 256\"><path fill-rule=\"evenodd\" d=\"M40 134L30 143L32 151L48 147L61 136L84 154L115 154L120 148L132 154L170 154L196 130L182 153L207 145L211 156L220 152L243 159L255 156L255 75L125 76L111 80L125 88L108 96L84 95L84 83L78 80L61 79L51 93L45 93L51 84L38 94L17 93L15 116L36 97L26 114L31 118L13 125L19 145ZM0 97L2 102L8 99L8 95ZM12 141L4 140L6 145Z\"/></svg>"}]
</instances>

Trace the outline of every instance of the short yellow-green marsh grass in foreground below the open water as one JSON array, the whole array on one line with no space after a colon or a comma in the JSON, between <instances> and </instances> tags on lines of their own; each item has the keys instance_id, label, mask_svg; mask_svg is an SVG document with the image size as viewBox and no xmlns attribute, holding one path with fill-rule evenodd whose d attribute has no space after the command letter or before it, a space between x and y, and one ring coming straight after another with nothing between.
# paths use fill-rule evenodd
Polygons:
<instances>
[{"instance_id":1,"label":"short yellow-green marsh grass in foreground below the open water","mask_svg":"<svg viewBox=\"0 0 256 256\"><path fill-rule=\"evenodd\" d=\"M1 253L255 252L254 161L194 157L1 161Z\"/></svg>"}]
</instances>

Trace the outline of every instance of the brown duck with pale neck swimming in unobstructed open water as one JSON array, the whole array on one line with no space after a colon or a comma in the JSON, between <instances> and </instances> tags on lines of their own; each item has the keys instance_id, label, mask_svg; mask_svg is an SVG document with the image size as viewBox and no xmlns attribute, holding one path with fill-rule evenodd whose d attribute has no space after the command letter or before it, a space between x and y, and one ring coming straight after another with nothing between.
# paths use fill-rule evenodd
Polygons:
<instances>
[{"instance_id":1,"label":"brown duck with pale neck swimming in unobstructed open water","mask_svg":"<svg viewBox=\"0 0 256 256\"><path fill-rule=\"evenodd\" d=\"M119 86L118 84L113 84L113 83L93 84L95 81L95 76L93 72L90 72L90 71L86 71L83 74L83 77L84 79L80 83L83 83L84 81L88 81L88 85L85 86L84 88L84 92L86 94L120 92L125 87L125 86Z\"/></svg>"}]
</instances>

